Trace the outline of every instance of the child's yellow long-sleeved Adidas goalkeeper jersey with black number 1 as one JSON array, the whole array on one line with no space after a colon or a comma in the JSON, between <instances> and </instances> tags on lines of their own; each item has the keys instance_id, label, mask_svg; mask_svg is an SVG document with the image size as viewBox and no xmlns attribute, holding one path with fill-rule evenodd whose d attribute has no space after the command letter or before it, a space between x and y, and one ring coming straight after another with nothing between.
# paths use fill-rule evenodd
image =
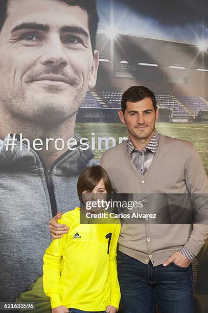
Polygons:
<instances>
[{"instance_id":1,"label":"child's yellow long-sleeved Adidas goalkeeper jersey with black number 1","mask_svg":"<svg viewBox=\"0 0 208 313\"><path fill-rule=\"evenodd\" d=\"M119 307L117 243L120 220L80 224L80 209L69 211L58 220L70 228L54 239L43 257L43 288L51 306L64 305L84 311ZM111 221L110 221L111 220Z\"/></svg>"}]
</instances>

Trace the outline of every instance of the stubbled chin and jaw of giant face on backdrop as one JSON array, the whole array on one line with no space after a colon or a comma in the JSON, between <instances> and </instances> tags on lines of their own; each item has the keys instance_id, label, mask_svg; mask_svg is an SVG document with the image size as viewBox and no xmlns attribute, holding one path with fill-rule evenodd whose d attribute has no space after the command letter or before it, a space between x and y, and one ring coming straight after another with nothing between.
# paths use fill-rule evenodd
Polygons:
<instances>
[{"instance_id":1,"label":"stubbled chin and jaw of giant face on backdrop","mask_svg":"<svg viewBox=\"0 0 208 313\"><path fill-rule=\"evenodd\" d=\"M7 88L7 90L4 89L0 92L0 101L1 106L4 106L15 120L58 123L76 114L85 94L86 91L82 90L82 86L73 90L68 97L51 93L27 97L18 91L15 91L14 94L14 90L10 93ZM8 97L8 95L10 96Z\"/></svg>"}]
</instances>

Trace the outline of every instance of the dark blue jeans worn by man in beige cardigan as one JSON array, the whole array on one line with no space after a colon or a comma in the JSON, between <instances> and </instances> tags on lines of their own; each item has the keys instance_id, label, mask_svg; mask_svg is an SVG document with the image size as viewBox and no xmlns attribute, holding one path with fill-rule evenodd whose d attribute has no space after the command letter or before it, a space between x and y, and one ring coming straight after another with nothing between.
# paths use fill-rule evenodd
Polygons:
<instances>
[{"instance_id":1,"label":"dark blue jeans worn by man in beige cardigan","mask_svg":"<svg viewBox=\"0 0 208 313\"><path fill-rule=\"evenodd\" d=\"M118 251L118 277L123 313L193 312L192 266L153 266Z\"/></svg>"}]
</instances>

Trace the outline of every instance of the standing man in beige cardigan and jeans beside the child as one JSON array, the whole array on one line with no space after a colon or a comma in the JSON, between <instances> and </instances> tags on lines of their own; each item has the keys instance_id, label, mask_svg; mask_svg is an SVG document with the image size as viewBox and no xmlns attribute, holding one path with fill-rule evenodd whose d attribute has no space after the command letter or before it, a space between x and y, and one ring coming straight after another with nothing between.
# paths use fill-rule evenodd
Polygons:
<instances>
[{"instance_id":1,"label":"standing man in beige cardigan and jeans beside the child","mask_svg":"<svg viewBox=\"0 0 208 313\"><path fill-rule=\"evenodd\" d=\"M196 209L207 221L208 180L200 156L187 141L155 130L158 108L154 94L144 86L130 87L119 111L129 139L106 151L101 165L119 193L140 194L144 207L148 195L180 194L182 200L197 195ZM199 199L199 200L198 200ZM200 201L200 202L199 202ZM176 199L177 203L177 199ZM60 235L55 226L50 229ZM61 226L60 226L61 227ZM191 262L199 253L208 227L202 223L124 223L119 238L118 276L124 313L193 312Z\"/></svg>"}]
</instances>

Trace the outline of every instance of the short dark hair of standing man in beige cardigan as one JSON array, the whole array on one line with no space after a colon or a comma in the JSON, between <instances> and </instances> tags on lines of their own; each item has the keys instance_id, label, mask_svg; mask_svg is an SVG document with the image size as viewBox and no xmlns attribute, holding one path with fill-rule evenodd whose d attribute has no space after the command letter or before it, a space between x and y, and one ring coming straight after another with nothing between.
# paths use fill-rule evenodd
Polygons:
<instances>
[{"instance_id":1,"label":"short dark hair of standing man in beige cardigan","mask_svg":"<svg viewBox=\"0 0 208 313\"><path fill-rule=\"evenodd\" d=\"M149 90L145 86L132 86L128 88L124 92L122 96L122 100L121 100L121 109L122 109L123 114L126 109L127 101L138 102L145 98L150 98L152 100L154 110L156 111L156 108L157 108L156 99L155 99L155 95L153 94L153 92L151 92L151 90Z\"/></svg>"}]
</instances>

